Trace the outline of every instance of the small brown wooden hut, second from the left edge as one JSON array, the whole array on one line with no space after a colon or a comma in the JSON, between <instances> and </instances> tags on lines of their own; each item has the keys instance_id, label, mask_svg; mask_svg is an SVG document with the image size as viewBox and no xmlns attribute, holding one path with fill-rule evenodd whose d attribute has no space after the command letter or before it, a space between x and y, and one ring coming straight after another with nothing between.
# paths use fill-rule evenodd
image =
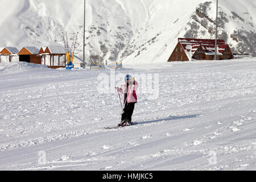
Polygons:
<instances>
[{"instance_id":1,"label":"small brown wooden hut, second from the left edge","mask_svg":"<svg viewBox=\"0 0 256 182\"><path fill-rule=\"evenodd\" d=\"M36 47L23 47L19 52L19 61L41 64L40 57L38 56L39 49Z\"/></svg>"}]
</instances>

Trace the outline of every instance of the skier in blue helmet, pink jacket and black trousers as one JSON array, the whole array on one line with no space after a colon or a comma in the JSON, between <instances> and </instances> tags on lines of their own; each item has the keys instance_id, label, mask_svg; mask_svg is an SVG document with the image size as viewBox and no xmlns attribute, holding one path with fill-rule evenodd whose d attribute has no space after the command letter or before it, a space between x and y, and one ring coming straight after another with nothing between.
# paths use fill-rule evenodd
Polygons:
<instances>
[{"instance_id":1,"label":"skier in blue helmet, pink jacket and black trousers","mask_svg":"<svg viewBox=\"0 0 256 182\"><path fill-rule=\"evenodd\" d=\"M122 89L115 87L118 92L123 93L123 104L125 104L122 119L118 126L133 125L131 122L131 116L133 115L135 103L137 103L136 90L139 87L138 82L130 75L126 75L125 82L126 84L122 85Z\"/></svg>"}]
</instances>

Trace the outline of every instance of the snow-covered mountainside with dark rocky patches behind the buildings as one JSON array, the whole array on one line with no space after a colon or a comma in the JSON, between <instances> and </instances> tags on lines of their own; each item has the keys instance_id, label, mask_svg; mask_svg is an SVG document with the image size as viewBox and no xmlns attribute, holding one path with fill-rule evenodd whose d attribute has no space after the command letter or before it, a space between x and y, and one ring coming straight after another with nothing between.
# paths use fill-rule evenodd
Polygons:
<instances>
[{"instance_id":1,"label":"snow-covered mountainside with dark rocky patches behind the buildings","mask_svg":"<svg viewBox=\"0 0 256 182\"><path fill-rule=\"evenodd\" d=\"M62 44L62 32L79 32L82 57L84 1L20 0L0 2L0 47ZM256 56L256 2L219 1L219 38L233 52ZM87 0L87 60L124 64L165 62L177 38L214 38L215 1Z\"/></svg>"}]
</instances>

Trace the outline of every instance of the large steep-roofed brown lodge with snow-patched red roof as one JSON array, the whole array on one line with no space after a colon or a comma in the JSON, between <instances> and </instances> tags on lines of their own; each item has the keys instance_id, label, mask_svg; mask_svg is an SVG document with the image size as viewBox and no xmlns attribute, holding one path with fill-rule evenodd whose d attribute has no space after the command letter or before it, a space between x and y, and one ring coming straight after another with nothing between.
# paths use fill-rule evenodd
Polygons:
<instances>
[{"instance_id":1,"label":"large steep-roofed brown lodge with snow-patched red roof","mask_svg":"<svg viewBox=\"0 0 256 182\"><path fill-rule=\"evenodd\" d=\"M172 52L170 61L214 60L214 39L185 39L179 38ZM234 56L224 40L217 40L217 60L233 59Z\"/></svg>"}]
</instances>

